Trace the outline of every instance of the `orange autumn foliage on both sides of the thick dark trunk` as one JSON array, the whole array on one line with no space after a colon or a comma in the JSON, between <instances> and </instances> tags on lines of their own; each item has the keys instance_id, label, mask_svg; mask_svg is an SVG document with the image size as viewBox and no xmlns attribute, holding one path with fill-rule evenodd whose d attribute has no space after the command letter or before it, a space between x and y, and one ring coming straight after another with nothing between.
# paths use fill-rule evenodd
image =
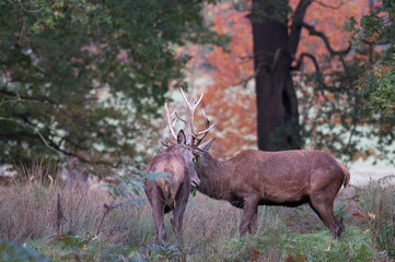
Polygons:
<instances>
[{"instance_id":1,"label":"orange autumn foliage on both sides of the thick dark trunk","mask_svg":"<svg viewBox=\"0 0 395 262\"><path fill-rule=\"evenodd\" d=\"M295 10L299 1L291 0L290 8ZM252 46L252 27L247 19L249 2L224 1L207 7L207 19L213 23L213 29L219 34L231 37L228 48L213 46L204 51L194 47L189 62L193 74L207 79L205 83L194 82L196 93L204 92L208 115L216 122L212 131L217 136L217 146L212 147L217 156L232 156L237 151L256 146L256 102L254 90L254 64ZM289 25L292 23L292 11L289 12ZM344 31L345 20L349 16L361 17L369 11L367 1L313 1L309 7L304 22L314 29L326 35L332 51L349 48L348 35ZM302 31L294 64L300 53L307 52L315 56L322 72L340 70L342 63L339 57L329 56L329 51L322 38L312 36L306 29ZM194 56L196 55L196 56ZM353 59L353 55L346 60ZM199 64L199 66L198 66ZM208 66L207 66L208 64ZM294 82L304 81L303 74L316 69L311 60L304 59L300 71L293 76ZM325 81L332 81L330 78ZM305 85L305 83L300 83ZM306 88L300 95L310 96L312 91ZM317 96L316 99L334 99L332 94ZM300 110L303 105L300 104ZM303 116L301 116L302 118ZM329 119L328 119L329 120ZM339 122L339 116L330 121Z\"/></svg>"}]
</instances>

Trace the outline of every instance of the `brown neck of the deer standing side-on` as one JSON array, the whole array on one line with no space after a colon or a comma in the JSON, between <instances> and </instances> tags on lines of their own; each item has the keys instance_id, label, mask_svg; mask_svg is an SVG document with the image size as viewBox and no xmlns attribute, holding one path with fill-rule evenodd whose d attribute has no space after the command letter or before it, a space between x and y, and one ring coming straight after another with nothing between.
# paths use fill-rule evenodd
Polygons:
<instances>
[{"instance_id":1,"label":"brown neck of the deer standing side-on","mask_svg":"<svg viewBox=\"0 0 395 262\"><path fill-rule=\"evenodd\" d=\"M197 172L199 191L213 199L225 199L229 192L232 167L226 160L218 160L208 153L201 157Z\"/></svg>"}]
</instances>

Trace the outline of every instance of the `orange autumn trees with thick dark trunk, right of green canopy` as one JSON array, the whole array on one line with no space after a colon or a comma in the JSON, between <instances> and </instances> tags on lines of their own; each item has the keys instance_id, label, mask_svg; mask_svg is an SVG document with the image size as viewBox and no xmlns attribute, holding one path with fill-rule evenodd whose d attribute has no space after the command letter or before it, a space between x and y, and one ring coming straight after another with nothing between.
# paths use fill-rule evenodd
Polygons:
<instances>
[{"instance_id":1,"label":"orange autumn trees with thick dark trunk, right of green canopy","mask_svg":"<svg viewBox=\"0 0 395 262\"><path fill-rule=\"evenodd\" d=\"M202 69L199 61L189 64L208 79L195 84L209 93L208 114L221 112L211 114L223 145L213 147L217 155L258 144L393 162L393 10L392 1L365 0L210 5L214 31L232 37L229 49L213 47L199 58L208 63ZM371 94L383 94L380 85L386 86L380 103L386 109L372 111Z\"/></svg>"}]
</instances>

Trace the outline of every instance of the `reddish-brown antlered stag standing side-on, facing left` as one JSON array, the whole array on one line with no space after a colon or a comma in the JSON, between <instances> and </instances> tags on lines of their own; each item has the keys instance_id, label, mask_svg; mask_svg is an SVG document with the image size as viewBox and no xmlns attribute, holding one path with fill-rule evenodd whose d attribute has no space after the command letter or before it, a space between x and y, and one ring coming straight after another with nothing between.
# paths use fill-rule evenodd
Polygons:
<instances>
[{"instance_id":1,"label":"reddish-brown antlered stag standing side-on, facing left","mask_svg":"<svg viewBox=\"0 0 395 262\"><path fill-rule=\"evenodd\" d=\"M184 96L190 108L190 102ZM194 111L190 110L190 115ZM208 128L210 122L202 110ZM191 119L193 116L190 117ZM196 133L190 122L190 146L196 155L197 188L217 200L229 201L243 209L240 235L257 229L258 205L298 206L309 203L329 229L340 237L344 225L335 217L334 200L350 174L344 165L322 151L263 152L247 150L228 160L218 160L209 153L213 142L202 142L208 130Z\"/></svg>"}]
</instances>

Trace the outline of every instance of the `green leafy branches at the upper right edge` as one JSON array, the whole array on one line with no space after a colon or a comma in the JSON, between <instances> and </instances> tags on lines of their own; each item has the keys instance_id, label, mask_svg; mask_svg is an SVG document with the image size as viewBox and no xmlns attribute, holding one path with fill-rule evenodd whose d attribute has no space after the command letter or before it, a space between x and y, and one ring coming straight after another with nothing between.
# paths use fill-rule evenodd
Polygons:
<instances>
[{"instance_id":1,"label":"green leafy branches at the upper right edge","mask_svg":"<svg viewBox=\"0 0 395 262\"><path fill-rule=\"evenodd\" d=\"M361 64L365 74L356 83L368 99L367 106L374 112L395 112L395 2L380 1L361 20L351 16L345 29L350 32L349 41L359 52L369 53ZM372 53L372 48L380 51Z\"/></svg>"}]
</instances>

